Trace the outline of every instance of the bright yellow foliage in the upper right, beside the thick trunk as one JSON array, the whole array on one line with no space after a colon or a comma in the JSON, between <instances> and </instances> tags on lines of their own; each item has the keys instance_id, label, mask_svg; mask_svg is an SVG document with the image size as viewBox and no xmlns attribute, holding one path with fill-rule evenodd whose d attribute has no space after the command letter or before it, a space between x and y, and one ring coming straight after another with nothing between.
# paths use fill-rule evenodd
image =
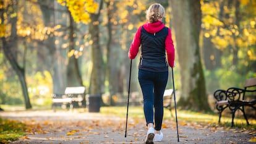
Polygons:
<instances>
[{"instance_id":1,"label":"bright yellow foliage in the upper right, beside the thick trunk","mask_svg":"<svg viewBox=\"0 0 256 144\"><path fill-rule=\"evenodd\" d=\"M241 5L250 9L252 2L249 0L240 0ZM246 49L253 46L256 42L255 36L255 19L245 16L246 20L239 21L239 25L235 25L236 17L232 8L224 6L223 14L229 17L220 17L221 5L219 2L201 2L202 9L202 28L205 30L203 36L205 38L213 38L211 41L216 48L224 49L228 46L237 46L239 49ZM248 6L245 6L248 5ZM247 11L248 14L252 13ZM215 38L215 36L218 36Z\"/></svg>"}]
</instances>

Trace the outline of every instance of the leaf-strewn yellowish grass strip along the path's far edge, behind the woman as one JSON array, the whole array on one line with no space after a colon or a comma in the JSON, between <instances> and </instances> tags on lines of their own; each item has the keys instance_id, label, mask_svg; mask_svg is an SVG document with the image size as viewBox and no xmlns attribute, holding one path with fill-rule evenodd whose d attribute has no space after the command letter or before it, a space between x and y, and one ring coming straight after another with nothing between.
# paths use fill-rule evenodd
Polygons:
<instances>
[{"instance_id":1,"label":"leaf-strewn yellowish grass strip along the path's far edge, behind the woman","mask_svg":"<svg viewBox=\"0 0 256 144\"><path fill-rule=\"evenodd\" d=\"M102 107L101 113L103 114L114 114L119 117L126 117L127 108L126 107ZM222 126L222 127L231 127L231 114L223 114L221 117L221 123L218 124L219 116L218 114L211 113L202 113L194 111L185 111L177 109L177 119L178 122L197 122L200 124L211 125L211 126ZM142 106L130 106L129 107L129 117L134 119L143 119L143 107ZM169 119L175 121L175 109L169 111L164 109L164 119ZM244 117L236 116L234 119L234 127L237 129L253 129L256 130L256 120L249 119L250 125L246 124Z\"/></svg>"}]
</instances>

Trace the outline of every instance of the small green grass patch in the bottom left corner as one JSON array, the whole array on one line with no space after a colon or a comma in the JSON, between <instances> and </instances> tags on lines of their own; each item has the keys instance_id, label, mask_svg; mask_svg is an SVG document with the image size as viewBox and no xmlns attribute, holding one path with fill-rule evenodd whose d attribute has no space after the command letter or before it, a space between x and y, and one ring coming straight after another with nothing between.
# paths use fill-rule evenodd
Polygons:
<instances>
[{"instance_id":1,"label":"small green grass patch in the bottom left corner","mask_svg":"<svg viewBox=\"0 0 256 144\"><path fill-rule=\"evenodd\" d=\"M17 140L25 133L25 125L10 119L0 118L0 143Z\"/></svg>"}]
</instances>

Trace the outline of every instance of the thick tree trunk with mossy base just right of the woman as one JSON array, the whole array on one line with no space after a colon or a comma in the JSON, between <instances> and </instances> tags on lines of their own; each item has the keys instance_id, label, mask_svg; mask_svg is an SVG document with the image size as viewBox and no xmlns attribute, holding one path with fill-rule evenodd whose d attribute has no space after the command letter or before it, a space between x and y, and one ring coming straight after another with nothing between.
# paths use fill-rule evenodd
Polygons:
<instances>
[{"instance_id":1,"label":"thick tree trunk with mossy base just right of the woman","mask_svg":"<svg viewBox=\"0 0 256 144\"><path fill-rule=\"evenodd\" d=\"M178 105L183 109L210 111L198 44L202 16L200 0L171 0L171 7L181 67Z\"/></svg>"}]
</instances>

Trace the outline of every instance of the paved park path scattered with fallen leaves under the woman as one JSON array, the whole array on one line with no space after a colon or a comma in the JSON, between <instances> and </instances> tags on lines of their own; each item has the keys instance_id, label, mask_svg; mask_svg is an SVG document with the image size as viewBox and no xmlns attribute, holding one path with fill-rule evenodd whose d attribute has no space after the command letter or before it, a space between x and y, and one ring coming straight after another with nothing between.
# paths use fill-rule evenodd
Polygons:
<instances>
[{"instance_id":1,"label":"paved park path scattered with fallen leaves under the woman","mask_svg":"<svg viewBox=\"0 0 256 144\"><path fill-rule=\"evenodd\" d=\"M0 112L1 117L28 124L25 137L13 143L143 143L147 132L143 119L128 121L127 137L124 137L126 119L100 113L70 111L22 111ZM176 123L164 120L163 144L178 143ZM254 133L254 134L252 134ZM208 127L195 123L179 122L179 143L255 143L249 142L256 132Z\"/></svg>"}]
</instances>

